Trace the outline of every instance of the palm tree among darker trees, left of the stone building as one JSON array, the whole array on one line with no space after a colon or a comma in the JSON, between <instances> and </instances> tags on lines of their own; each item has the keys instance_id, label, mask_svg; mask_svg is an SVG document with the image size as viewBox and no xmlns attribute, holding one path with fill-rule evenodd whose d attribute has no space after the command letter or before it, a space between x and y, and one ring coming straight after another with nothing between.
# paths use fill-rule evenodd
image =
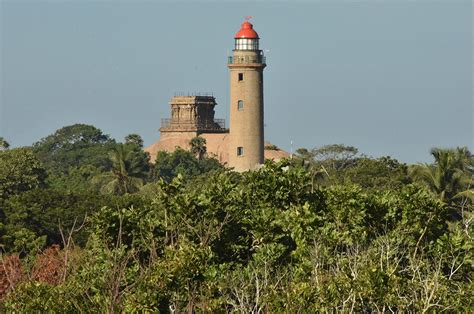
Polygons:
<instances>
[{"instance_id":1,"label":"palm tree among darker trees, left of the stone building","mask_svg":"<svg viewBox=\"0 0 474 314\"><path fill-rule=\"evenodd\" d=\"M110 152L111 170L94 178L95 183L102 185L102 192L122 195L140 189L148 164L137 153L133 147L122 144Z\"/></svg>"}]
</instances>

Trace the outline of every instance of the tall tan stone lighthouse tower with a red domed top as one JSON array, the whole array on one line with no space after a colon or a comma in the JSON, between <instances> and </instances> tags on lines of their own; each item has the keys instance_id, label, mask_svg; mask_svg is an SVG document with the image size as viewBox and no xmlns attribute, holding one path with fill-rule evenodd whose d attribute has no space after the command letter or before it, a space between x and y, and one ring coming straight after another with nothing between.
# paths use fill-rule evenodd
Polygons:
<instances>
[{"instance_id":1,"label":"tall tan stone lighthouse tower with a red domed top","mask_svg":"<svg viewBox=\"0 0 474 314\"><path fill-rule=\"evenodd\" d=\"M247 171L263 163L263 69L265 57L249 21L235 34L230 70L229 166Z\"/></svg>"}]
</instances>

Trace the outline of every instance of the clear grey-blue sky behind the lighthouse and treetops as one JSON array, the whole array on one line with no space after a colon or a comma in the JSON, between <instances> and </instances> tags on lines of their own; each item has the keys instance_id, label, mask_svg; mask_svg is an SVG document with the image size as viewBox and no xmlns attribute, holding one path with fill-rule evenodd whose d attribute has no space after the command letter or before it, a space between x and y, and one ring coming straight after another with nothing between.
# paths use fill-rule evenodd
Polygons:
<instances>
[{"instance_id":1,"label":"clear grey-blue sky behind the lighthouse and treetops","mask_svg":"<svg viewBox=\"0 0 474 314\"><path fill-rule=\"evenodd\" d=\"M88 123L159 137L175 92L213 92L247 15L267 50L265 135L430 161L473 143L471 1L0 2L0 136L30 145Z\"/></svg>"}]
</instances>

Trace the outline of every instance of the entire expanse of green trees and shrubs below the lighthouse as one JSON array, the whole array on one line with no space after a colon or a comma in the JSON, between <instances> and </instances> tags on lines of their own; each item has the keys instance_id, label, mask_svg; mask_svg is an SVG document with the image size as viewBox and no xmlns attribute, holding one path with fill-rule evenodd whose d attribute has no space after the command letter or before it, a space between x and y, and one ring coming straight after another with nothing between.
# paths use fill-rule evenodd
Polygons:
<instances>
[{"instance_id":1,"label":"entire expanse of green trees and shrubs below the lighthouse","mask_svg":"<svg viewBox=\"0 0 474 314\"><path fill-rule=\"evenodd\" d=\"M331 145L239 174L200 138L150 164L136 134L67 130L47 137L65 150L0 151L2 312L474 307L467 149L405 165Z\"/></svg>"}]
</instances>

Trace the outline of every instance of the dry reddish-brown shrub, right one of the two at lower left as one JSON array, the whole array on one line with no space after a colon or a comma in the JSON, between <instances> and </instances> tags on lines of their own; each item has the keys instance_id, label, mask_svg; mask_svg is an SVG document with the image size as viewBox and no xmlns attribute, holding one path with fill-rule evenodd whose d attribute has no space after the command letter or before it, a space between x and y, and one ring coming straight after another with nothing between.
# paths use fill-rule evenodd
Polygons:
<instances>
[{"instance_id":1,"label":"dry reddish-brown shrub, right one of the two at lower left","mask_svg":"<svg viewBox=\"0 0 474 314\"><path fill-rule=\"evenodd\" d=\"M64 253L59 245L52 245L37 256L31 277L33 280L58 285L63 281L65 272Z\"/></svg>"}]
</instances>

